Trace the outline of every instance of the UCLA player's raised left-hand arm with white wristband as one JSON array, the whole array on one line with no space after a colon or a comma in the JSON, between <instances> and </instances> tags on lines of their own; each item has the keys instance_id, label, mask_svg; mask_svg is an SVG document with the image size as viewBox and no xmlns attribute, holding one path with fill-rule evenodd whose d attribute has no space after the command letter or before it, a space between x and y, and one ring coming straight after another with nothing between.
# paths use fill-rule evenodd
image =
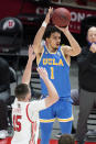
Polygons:
<instances>
[{"instance_id":1,"label":"UCLA player's raised left-hand arm with white wristband","mask_svg":"<svg viewBox=\"0 0 96 144\"><path fill-rule=\"evenodd\" d=\"M53 8L50 8L49 12L46 13L45 20L43 21L41 27L39 29L35 37L34 37L33 45L35 46L34 47L35 54L41 53L40 51L41 51L42 37L43 37L43 34L45 32L47 24L50 23L50 15L51 15L52 12L53 12Z\"/></svg>"}]
</instances>

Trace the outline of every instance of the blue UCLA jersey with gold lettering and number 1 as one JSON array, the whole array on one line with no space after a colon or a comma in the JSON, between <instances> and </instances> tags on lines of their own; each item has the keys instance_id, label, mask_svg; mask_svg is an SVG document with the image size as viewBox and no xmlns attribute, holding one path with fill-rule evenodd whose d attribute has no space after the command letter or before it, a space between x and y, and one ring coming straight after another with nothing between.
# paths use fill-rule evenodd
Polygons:
<instances>
[{"instance_id":1,"label":"blue UCLA jersey with gold lettering and number 1","mask_svg":"<svg viewBox=\"0 0 96 144\"><path fill-rule=\"evenodd\" d=\"M41 56L39 67L45 67L49 78L52 80L60 97L71 97L70 66L64 58L61 46L56 53L50 53L49 49L44 46L44 52ZM41 88L42 95L49 95L46 86L42 79Z\"/></svg>"}]
</instances>

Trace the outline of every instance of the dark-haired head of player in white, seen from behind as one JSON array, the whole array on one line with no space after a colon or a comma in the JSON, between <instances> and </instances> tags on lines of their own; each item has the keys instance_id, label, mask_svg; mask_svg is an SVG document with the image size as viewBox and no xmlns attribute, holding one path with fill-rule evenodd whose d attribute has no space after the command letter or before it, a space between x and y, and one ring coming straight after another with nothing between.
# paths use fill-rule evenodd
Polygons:
<instances>
[{"instance_id":1,"label":"dark-haired head of player in white, seen from behind","mask_svg":"<svg viewBox=\"0 0 96 144\"><path fill-rule=\"evenodd\" d=\"M20 84L15 87L14 95L18 99L24 100L30 89L26 84Z\"/></svg>"}]
</instances>

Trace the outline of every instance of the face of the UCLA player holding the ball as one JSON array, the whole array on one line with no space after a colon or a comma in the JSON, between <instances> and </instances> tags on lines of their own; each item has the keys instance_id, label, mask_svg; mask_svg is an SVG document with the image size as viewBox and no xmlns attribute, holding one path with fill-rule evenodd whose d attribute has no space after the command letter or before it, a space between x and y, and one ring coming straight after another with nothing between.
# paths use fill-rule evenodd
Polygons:
<instances>
[{"instance_id":1,"label":"face of the UCLA player holding the ball","mask_svg":"<svg viewBox=\"0 0 96 144\"><path fill-rule=\"evenodd\" d=\"M52 33L50 38L46 40L47 45L50 45L53 49L57 49L61 43L61 34L55 32Z\"/></svg>"}]
</instances>

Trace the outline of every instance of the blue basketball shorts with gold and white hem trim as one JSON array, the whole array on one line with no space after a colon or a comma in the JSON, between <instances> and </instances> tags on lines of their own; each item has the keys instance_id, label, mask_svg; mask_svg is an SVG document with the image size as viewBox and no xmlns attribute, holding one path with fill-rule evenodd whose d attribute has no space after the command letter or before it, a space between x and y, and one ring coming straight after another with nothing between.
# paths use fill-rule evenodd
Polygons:
<instances>
[{"instance_id":1,"label":"blue basketball shorts with gold and white hem trim","mask_svg":"<svg viewBox=\"0 0 96 144\"><path fill-rule=\"evenodd\" d=\"M40 122L54 122L55 119L60 122L68 122L73 120L71 99L60 98L56 103L40 111Z\"/></svg>"}]
</instances>

